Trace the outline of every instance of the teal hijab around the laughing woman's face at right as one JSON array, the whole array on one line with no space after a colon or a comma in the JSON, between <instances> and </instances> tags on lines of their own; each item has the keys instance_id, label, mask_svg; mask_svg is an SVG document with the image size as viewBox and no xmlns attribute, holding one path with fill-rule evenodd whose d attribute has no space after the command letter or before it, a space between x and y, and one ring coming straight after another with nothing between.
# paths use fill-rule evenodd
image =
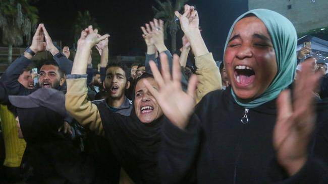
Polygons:
<instances>
[{"instance_id":1,"label":"teal hijab around the laughing woman's face at right","mask_svg":"<svg viewBox=\"0 0 328 184\"><path fill-rule=\"evenodd\" d=\"M255 99L240 99L231 88L235 102L244 108L255 108L277 98L281 91L293 82L296 72L296 30L287 18L274 11L256 9L238 17L230 28L225 52L236 23L250 14L259 18L269 32L276 52L278 72L264 93Z\"/></svg>"}]
</instances>

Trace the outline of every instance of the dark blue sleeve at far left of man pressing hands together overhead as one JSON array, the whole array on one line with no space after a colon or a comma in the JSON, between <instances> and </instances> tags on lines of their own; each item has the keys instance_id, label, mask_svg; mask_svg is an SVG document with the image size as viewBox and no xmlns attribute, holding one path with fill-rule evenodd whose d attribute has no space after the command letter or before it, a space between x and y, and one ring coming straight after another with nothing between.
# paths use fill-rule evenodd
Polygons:
<instances>
[{"instance_id":1,"label":"dark blue sleeve at far left of man pressing hands together overhead","mask_svg":"<svg viewBox=\"0 0 328 184\"><path fill-rule=\"evenodd\" d=\"M11 65L9 65L5 73L2 75L2 81L8 89L8 95L28 95L33 91L25 88L18 82L19 76L24 72L29 64L31 64L31 60L21 55Z\"/></svg>"}]
</instances>

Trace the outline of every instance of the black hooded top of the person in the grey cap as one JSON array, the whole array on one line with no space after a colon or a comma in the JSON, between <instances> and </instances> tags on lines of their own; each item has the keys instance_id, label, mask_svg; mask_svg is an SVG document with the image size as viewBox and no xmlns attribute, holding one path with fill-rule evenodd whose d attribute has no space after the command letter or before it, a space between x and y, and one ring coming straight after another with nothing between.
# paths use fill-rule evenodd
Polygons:
<instances>
[{"instance_id":1,"label":"black hooded top of the person in the grey cap","mask_svg":"<svg viewBox=\"0 0 328 184\"><path fill-rule=\"evenodd\" d=\"M92 183L94 169L58 128L64 117L44 107L17 109L34 183Z\"/></svg>"}]
</instances>

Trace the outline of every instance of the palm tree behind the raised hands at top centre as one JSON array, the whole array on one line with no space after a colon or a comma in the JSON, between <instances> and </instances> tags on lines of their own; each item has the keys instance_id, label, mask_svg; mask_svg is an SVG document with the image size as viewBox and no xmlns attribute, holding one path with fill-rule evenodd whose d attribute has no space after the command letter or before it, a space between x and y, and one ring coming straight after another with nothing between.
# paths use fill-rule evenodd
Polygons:
<instances>
[{"instance_id":1,"label":"palm tree behind the raised hands at top centre","mask_svg":"<svg viewBox=\"0 0 328 184\"><path fill-rule=\"evenodd\" d=\"M189 0L176 0L176 3L173 7L172 0L166 0L166 2L161 2L160 0L155 0L158 5L158 9L154 6L152 10L155 13L155 19L162 19L164 24L165 33L169 30L171 35L171 51L174 52L177 50L177 32L180 29L179 24L175 21L175 11L180 11L184 5ZM165 34L167 37L167 34Z\"/></svg>"}]
</instances>

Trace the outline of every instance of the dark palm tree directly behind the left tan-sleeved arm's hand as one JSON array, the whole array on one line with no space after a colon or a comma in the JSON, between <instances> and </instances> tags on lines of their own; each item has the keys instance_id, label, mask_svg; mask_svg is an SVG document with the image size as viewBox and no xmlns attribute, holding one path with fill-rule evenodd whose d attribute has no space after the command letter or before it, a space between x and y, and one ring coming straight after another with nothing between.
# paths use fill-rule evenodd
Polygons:
<instances>
[{"instance_id":1,"label":"dark palm tree directly behind the left tan-sleeved arm's hand","mask_svg":"<svg viewBox=\"0 0 328 184\"><path fill-rule=\"evenodd\" d=\"M89 25L92 25L93 28L97 28L99 30L96 20L91 17L89 11L85 11L83 13L78 12L76 21L73 26L74 43L77 43L81 36L81 31L87 28Z\"/></svg>"}]
</instances>

